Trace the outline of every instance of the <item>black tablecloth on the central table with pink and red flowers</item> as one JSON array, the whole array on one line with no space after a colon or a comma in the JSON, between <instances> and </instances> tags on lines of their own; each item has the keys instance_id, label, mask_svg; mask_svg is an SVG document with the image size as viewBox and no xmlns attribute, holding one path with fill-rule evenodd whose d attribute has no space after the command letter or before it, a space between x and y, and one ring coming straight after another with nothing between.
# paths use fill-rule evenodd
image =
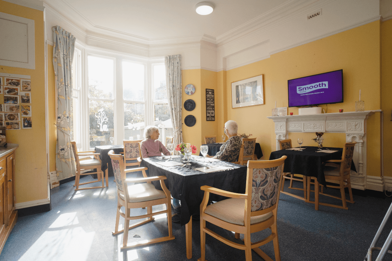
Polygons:
<instances>
[{"instance_id":1,"label":"black tablecloth on the central table with pink and red flowers","mask_svg":"<svg viewBox=\"0 0 392 261\"><path fill-rule=\"evenodd\" d=\"M174 158L173 160L180 162L180 158ZM232 166L234 168L232 170L204 173L192 170L191 166L179 168L164 167L156 164L159 161L162 160L156 159L156 157L143 159L142 163L140 163L140 167L147 167L149 169L150 177L162 175L167 177L165 184L170 190L172 197L181 200L181 225L188 223L191 216L195 213L200 213L200 204L204 196L204 191L200 189L201 186L207 185L230 192L245 193L246 166L225 161L215 161L213 163L205 164L203 164L202 161L191 161L194 168L211 165ZM159 182L154 182L154 185L156 188L162 189ZM211 193L209 200L220 201L225 198L226 197Z\"/></svg>"}]
</instances>

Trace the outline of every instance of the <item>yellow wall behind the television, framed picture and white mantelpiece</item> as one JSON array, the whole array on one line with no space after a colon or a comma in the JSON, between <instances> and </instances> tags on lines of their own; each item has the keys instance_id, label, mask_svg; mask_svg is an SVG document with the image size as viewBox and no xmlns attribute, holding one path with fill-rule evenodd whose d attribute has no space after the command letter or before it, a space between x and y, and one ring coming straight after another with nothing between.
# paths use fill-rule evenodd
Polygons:
<instances>
[{"instance_id":1,"label":"yellow wall behind the television, framed picture and white mantelpiece","mask_svg":"<svg viewBox=\"0 0 392 261\"><path fill-rule=\"evenodd\" d=\"M388 28L390 30L391 26ZM223 76L224 72L219 72L218 88L220 84L226 88L227 116L223 111L224 120L235 120L239 125L239 133L253 134L252 138L257 138L257 142L261 145L263 159L269 159L271 151L276 150L276 135L273 121L266 117L271 115L275 100L277 100L277 107L288 106L287 80L339 69L343 69L344 102L321 105L325 111L328 113L336 113L339 109L344 109L346 112L355 111L359 89L361 89L362 100L365 100L365 110L380 109L379 34L380 21L375 21L279 52L271 55L269 59L229 70L226 72L226 77ZM231 82L260 74L264 75L265 104L232 109ZM222 107L225 106L221 105L220 108ZM290 112L296 115L298 108L288 108L288 113ZM368 119L367 127L367 175L380 176L380 113ZM297 138L303 138L305 146L316 145L311 140L314 136L313 133L289 134L294 144ZM345 134L339 133L327 133L324 134L324 138L324 145L330 147L342 147L346 140Z\"/></svg>"}]
</instances>

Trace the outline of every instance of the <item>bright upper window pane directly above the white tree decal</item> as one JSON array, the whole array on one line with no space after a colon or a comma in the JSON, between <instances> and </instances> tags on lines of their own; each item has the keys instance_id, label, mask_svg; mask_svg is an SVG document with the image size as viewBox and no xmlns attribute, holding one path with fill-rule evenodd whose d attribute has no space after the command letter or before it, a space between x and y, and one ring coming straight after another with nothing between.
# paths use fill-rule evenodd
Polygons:
<instances>
[{"instance_id":1,"label":"bright upper window pane directly above the white tree decal","mask_svg":"<svg viewBox=\"0 0 392 261\"><path fill-rule=\"evenodd\" d=\"M114 62L89 56L89 98L113 99Z\"/></svg>"}]
</instances>

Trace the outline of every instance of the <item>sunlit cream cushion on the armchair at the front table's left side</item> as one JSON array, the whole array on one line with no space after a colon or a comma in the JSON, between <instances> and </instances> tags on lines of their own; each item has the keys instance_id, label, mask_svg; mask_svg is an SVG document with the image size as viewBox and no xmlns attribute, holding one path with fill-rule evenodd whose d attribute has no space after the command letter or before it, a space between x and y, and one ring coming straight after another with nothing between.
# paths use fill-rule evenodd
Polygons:
<instances>
[{"instance_id":1,"label":"sunlit cream cushion on the armchair at the front table's left side","mask_svg":"<svg viewBox=\"0 0 392 261\"><path fill-rule=\"evenodd\" d=\"M129 203L143 202L165 198L166 194L163 190L158 190L151 183L142 183L128 186ZM124 195L120 197L125 200Z\"/></svg>"}]
</instances>

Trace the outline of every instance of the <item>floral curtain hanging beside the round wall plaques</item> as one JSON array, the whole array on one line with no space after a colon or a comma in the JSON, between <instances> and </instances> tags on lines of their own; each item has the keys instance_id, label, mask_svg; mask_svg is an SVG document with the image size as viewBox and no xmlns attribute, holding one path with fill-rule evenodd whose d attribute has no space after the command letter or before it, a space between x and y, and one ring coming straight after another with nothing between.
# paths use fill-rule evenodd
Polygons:
<instances>
[{"instance_id":1,"label":"floral curtain hanging beside the round wall plaques","mask_svg":"<svg viewBox=\"0 0 392 261\"><path fill-rule=\"evenodd\" d=\"M165 57L167 99L172 120L174 144L180 144L182 140L181 123L181 55L169 55Z\"/></svg>"}]
</instances>

